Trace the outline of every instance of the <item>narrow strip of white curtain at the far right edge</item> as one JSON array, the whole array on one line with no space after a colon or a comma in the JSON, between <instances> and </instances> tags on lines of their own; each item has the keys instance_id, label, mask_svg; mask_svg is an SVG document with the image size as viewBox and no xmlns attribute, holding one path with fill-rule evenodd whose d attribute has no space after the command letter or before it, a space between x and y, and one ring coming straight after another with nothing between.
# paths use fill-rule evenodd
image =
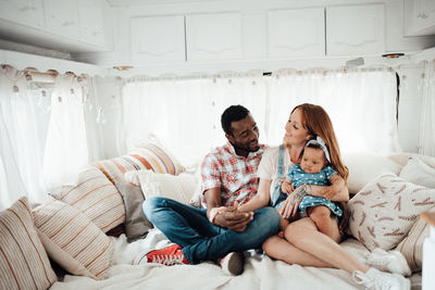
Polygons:
<instances>
[{"instance_id":1,"label":"narrow strip of white curtain at the far right edge","mask_svg":"<svg viewBox=\"0 0 435 290\"><path fill-rule=\"evenodd\" d=\"M422 93L419 153L435 156L435 61L425 64L419 90Z\"/></svg>"}]
</instances>

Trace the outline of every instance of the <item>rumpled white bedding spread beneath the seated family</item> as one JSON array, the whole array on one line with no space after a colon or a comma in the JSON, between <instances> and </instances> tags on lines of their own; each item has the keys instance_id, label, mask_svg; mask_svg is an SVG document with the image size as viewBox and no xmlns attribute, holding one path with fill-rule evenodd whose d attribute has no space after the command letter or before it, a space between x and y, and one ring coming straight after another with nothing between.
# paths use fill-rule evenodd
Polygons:
<instances>
[{"instance_id":1,"label":"rumpled white bedding spread beneath the seated family","mask_svg":"<svg viewBox=\"0 0 435 290\"><path fill-rule=\"evenodd\" d=\"M253 252L246 253L245 272L237 277L224 275L220 266L211 262L171 267L132 265L138 253L165 247L170 241L157 229L150 230L146 239L133 243L127 243L125 235L112 239L113 266L107 279L92 280L66 275L62 282L55 282L50 289L356 289L350 275L344 270L288 265ZM369 253L355 239L341 244L361 261ZM413 289L420 289L421 276L414 275L411 282Z\"/></svg>"}]
</instances>

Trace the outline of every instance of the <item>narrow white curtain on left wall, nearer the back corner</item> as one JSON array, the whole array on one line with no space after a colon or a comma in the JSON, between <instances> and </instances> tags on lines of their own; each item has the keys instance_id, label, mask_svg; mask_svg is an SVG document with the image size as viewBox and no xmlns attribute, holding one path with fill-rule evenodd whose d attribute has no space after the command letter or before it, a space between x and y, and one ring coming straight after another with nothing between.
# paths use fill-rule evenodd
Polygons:
<instances>
[{"instance_id":1,"label":"narrow white curtain on left wall, nearer the back corner","mask_svg":"<svg viewBox=\"0 0 435 290\"><path fill-rule=\"evenodd\" d=\"M69 73L57 77L44 157L44 178L50 190L75 184L79 168L88 164L85 100L78 77Z\"/></svg>"}]
</instances>

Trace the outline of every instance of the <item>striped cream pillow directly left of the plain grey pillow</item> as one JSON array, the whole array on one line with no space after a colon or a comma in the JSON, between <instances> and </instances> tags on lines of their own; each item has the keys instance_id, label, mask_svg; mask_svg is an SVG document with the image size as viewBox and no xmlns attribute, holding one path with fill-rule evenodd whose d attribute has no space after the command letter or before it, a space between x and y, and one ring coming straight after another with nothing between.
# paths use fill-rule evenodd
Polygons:
<instances>
[{"instance_id":1,"label":"striped cream pillow directly left of the plain grey pillow","mask_svg":"<svg viewBox=\"0 0 435 290\"><path fill-rule=\"evenodd\" d=\"M51 196L80 211L104 232L125 220L120 192L98 168L83 169L76 186L64 186Z\"/></svg>"}]
</instances>

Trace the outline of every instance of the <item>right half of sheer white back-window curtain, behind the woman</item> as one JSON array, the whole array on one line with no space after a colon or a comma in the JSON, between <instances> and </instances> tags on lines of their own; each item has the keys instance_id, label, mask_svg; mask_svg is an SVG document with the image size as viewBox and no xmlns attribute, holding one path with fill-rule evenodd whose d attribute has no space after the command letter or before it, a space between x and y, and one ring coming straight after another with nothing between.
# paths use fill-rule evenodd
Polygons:
<instances>
[{"instance_id":1,"label":"right half of sheer white back-window curtain, behind the woman","mask_svg":"<svg viewBox=\"0 0 435 290\"><path fill-rule=\"evenodd\" d=\"M279 143L291 109L308 102L326 110L341 152L400 151L396 90L395 73L386 68L278 73L271 79L269 141Z\"/></svg>"}]
</instances>

